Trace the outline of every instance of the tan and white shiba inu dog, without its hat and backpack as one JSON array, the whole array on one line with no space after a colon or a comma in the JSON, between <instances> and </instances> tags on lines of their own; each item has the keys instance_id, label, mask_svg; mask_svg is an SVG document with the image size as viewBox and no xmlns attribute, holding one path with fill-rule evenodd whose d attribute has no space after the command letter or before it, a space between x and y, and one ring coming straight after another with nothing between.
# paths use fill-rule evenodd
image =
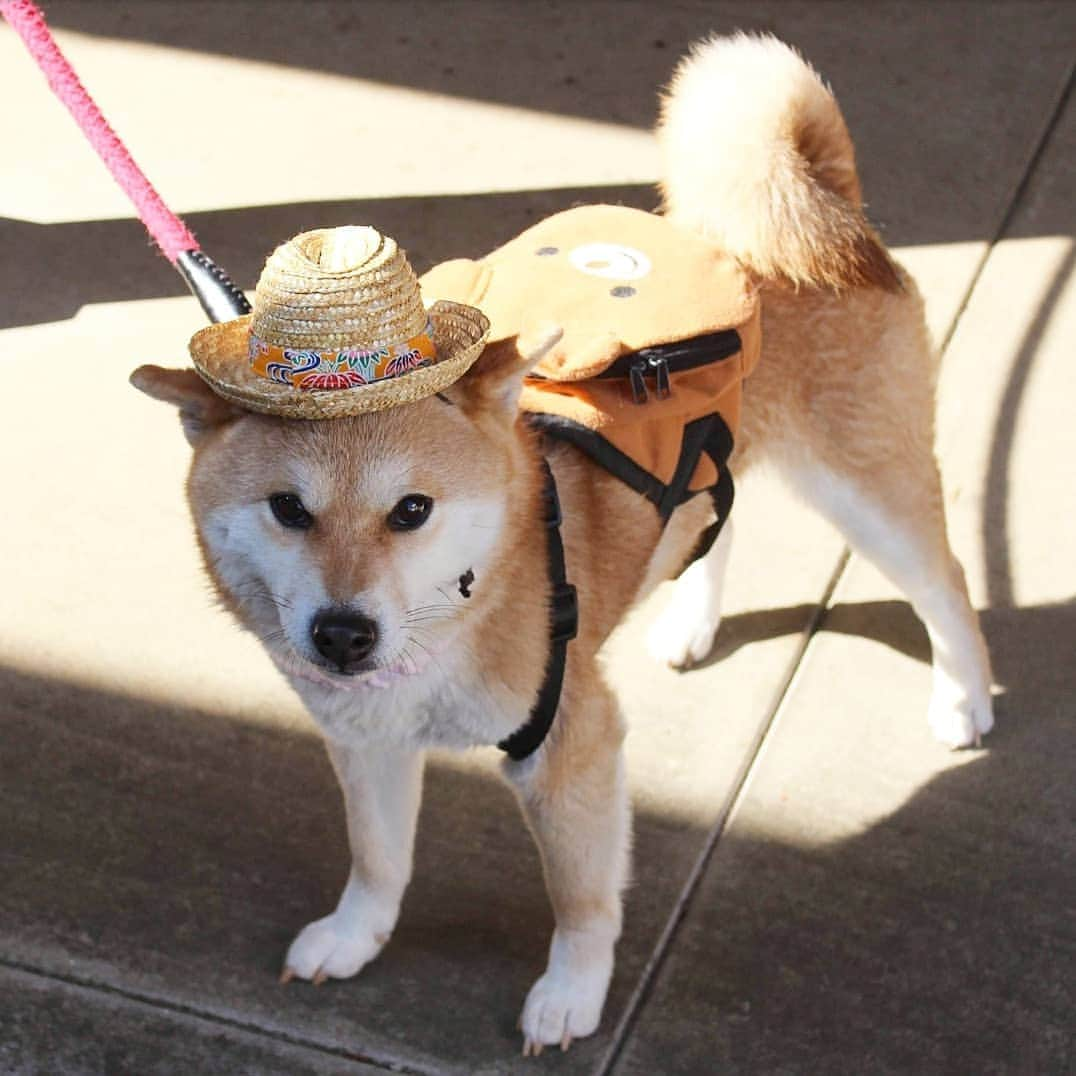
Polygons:
<instances>
[{"instance_id":1,"label":"tan and white shiba inu dog, without its hat and backpack","mask_svg":"<svg viewBox=\"0 0 1076 1076\"><path fill-rule=\"evenodd\" d=\"M733 254L762 293L763 353L745 387L738 479L774 465L907 595L930 633L928 714L943 742L992 723L989 660L946 537L933 452L935 356L915 284L863 215L833 97L792 49L738 36L698 46L664 102L667 214ZM542 447L520 420L555 326L487 346L405 407L327 422L222 399L193 370L133 381L179 407L208 570L323 730L353 863L284 978L355 975L385 945L411 873L423 751L509 736L549 653ZM680 569L710 504L664 529L570 445L547 447L579 595L560 708L541 748L507 761L540 846L556 926L523 1006L524 1051L598 1025L621 931L629 819L617 699L596 654L628 608ZM650 635L662 662L709 651L731 527L680 577Z\"/></svg>"}]
</instances>

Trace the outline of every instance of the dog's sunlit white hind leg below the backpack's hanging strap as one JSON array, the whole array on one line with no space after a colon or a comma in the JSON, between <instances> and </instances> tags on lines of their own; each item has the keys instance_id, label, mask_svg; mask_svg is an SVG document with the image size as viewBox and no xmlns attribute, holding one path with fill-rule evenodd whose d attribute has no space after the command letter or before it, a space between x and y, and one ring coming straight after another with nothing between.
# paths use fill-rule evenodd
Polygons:
<instances>
[{"instance_id":1,"label":"dog's sunlit white hind leg below the backpack's hanging strap","mask_svg":"<svg viewBox=\"0 0 1076 1076\"><path fill-rule=\"evenodd\" d=\"M721 625L721 597L732 544L730 519L706 556L689 564L674 583L668 605L647 635L647 649L655 661L672 668L689 668L713 648Z\"/></svg>"}]
</instances>

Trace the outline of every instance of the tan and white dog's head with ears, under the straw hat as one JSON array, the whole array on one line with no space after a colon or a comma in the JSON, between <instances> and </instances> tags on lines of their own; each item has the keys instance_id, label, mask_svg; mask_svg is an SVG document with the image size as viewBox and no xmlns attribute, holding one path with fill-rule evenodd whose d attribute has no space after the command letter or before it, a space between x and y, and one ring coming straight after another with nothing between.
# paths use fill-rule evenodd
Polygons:
<instances>
[{"instance_id":1,"label":"tan and white dog's head with ears, under the straw hat","mask_svg":"<svg viewBox=\"0 0 1076 1076\"><path fill-rule=\"evenodd\" d=\"M378 685L451 639L528 487L515 406L558 336L493 344L436 397L321 422L239 410L194 370L134 371L180 410L222 599L286 671Z\"/></svg>"}]
</instances>

